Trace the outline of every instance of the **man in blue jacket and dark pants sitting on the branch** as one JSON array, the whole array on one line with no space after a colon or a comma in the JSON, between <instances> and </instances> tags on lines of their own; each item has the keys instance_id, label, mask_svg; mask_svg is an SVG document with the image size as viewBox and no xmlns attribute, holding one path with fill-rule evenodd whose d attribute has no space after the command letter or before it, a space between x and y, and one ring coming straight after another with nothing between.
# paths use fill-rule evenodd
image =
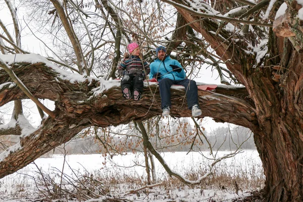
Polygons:
<instances>
[{"instance_id":1,"label":"man in blue jacket and dark pants sitting on the branch","mask_svg":"<svg viewBox=\"0 0 303 202\"><path fill-rule=\"evenodd\" d=\"M168 116L171 109L170 87L183 85L186 91L188 109L191 109L192 116L197 117L202 114L198 104L198 88L196 82L185 78L185 72L177 60L166 55L166 47L156 48L158 58L150 63L149 78L156 78L159 81L162 116Z\"/></svg>"}]
</instances>

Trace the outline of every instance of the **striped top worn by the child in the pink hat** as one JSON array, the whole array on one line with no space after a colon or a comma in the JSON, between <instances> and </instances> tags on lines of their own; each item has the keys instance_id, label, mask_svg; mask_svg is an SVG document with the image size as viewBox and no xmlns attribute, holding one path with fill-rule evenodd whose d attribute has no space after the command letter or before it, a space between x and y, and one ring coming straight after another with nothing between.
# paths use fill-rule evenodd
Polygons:
<instances>
[{"instance_id":1,"label":"striped top worn by the child in the pink hat","mask_svg":"<svg viewBox=\"0 0 303 202\"><path fill-rule=\"evenodd\" d=\"M141 74L144 73L143 65L146 75L148 75L150 72L149 63L144 61L142 64L142 61L138 56L128 56L119 64L118 73L122 75L123 71L126 70L126 74Z\"/></svg>"}]
</instances>

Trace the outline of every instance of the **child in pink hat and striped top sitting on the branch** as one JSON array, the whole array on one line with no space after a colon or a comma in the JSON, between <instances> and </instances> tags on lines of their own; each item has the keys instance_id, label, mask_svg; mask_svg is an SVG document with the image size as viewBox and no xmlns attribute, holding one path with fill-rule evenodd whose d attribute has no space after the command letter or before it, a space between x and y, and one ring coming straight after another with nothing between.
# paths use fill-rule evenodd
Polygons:
<instances>
[{"instance_id":1,"label":"child in pink hat and striped top sitting on the branch","mask_svg":"<svg viewBox=\"0 0 303 202\"><path fill-rule=\"evenodd\" d=\"M143 78L149 74L149 64L142 62L139 45L135 42L127 46L128 54L124 55L124 59L118 67L118 73L123 76L121 81L121 89L123 96L138 101L143 92ZM145 69L145 72L144 72Z\"/></svg>"}]
</instances>

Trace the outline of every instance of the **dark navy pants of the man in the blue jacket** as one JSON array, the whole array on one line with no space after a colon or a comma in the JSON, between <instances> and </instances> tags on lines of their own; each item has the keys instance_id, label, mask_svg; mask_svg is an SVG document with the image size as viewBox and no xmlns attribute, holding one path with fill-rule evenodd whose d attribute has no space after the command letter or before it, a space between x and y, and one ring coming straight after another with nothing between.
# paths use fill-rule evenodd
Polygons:
<instances>
[{"instance_id":1,"label":"dark navy pants of the man in the blue jacket","mask_svg":"<svg viewBox=\"0 0 303 202\"><path fill-rule=\"evenodd\" d=\"M198 105L198 88L195 81L189 79L175 81L165 78L159 81L162 109L164 106L172 106L170 92L172 85L183 85L185 87L188 109L191 109L194 105Z\"/></svg>"}]
</instances>

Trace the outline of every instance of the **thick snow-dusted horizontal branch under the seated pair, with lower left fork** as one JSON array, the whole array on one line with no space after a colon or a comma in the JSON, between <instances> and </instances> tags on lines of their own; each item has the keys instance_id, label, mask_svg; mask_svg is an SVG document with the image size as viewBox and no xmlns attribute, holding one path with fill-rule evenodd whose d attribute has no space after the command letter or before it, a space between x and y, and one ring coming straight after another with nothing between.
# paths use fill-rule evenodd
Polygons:
<instances>
[{"instance_id":1,"label":"thick snow-dusted horizontal branch under the seated pair, with lower left fork","mask_svg":"<svg viewBox=\"0 0 303 202\"><path fill-rule=\"evenodd\" d=\"M0 154L0 178L23 168L47 151L69 141L84 128L116 126L131 121L147 120L162 114L157 83L148 82L150 85L148 86L148 83L144 82L142 98L137 102L123 98L118 80L105 81L71 74L64 70L55 71L56 69L41 62L35 64L19 62L13 65L11 70L33 96L55 101L53 113L56 114L56 118L49 117L43 120L37 130L22 134L19 144L10 147L9 152ZM77 81L73 78L77 78ZM0 83L9 82L12 82L12 78L0 68ZM240 88L238 92L241 91L244 93L245 89ZM239 94L235 87L224 89L224 86L219 86L217 92L199 90L198 99L203 112L200 118L209 116L220 122L248 128L256 127L258 123L254 115L255 109L247 102L248 99L241 98L244 95ZM15 99L28 98L19 87L8 85L0 88L0 95L0 106ZM184 96L184 87L171 88L172 117L191 117L191 111L184 104Z\"/></svg>"}]
</instances>

